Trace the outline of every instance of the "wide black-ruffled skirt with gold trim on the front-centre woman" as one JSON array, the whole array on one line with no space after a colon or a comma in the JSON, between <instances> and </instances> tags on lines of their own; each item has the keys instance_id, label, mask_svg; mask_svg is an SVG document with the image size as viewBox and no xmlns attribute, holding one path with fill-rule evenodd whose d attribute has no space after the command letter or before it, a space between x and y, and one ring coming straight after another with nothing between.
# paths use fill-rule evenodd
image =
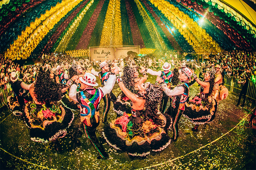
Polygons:
<instances>
[{"instance_id":1,"label":"wide black-ruffled skirt with gold trim on the front-centre woman","mask_svg":"<svg viewBox=\"0 0 256 170\"><path fill-rule=\"evenodd\" d=\"M150 151L161 151L170 144L171 138L165 132L172 123L169 115L158 115L162 126L156 125L152 119L131 119L130 115L124 112L123 116L104 126L103 135L109 145L133 156L145 156Z\"/></svg>"}]
</instances>

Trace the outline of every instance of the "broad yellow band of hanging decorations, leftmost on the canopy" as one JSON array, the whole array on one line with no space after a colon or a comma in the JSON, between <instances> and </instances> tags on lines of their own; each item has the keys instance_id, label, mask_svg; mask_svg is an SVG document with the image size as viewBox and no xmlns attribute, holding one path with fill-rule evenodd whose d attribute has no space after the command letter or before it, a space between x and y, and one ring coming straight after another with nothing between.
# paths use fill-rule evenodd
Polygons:
<instances>
[{"instance_id":1,"label":"broad yellow band of hanging decorations, leftmost on the canopy","mask_svg":"<svg viewBox=\"0 0 256 170\"><path fill-rule=\"evenodd\" d=\"M30 27L22 31L18 39L5 51L5 57L18 60L28 58L49 30L80 1L74 0L70 3L70 0L63 0L50 11L46 11L40 18L36 18L35 22L31 22Z\"/></svg>"}]
</instances>

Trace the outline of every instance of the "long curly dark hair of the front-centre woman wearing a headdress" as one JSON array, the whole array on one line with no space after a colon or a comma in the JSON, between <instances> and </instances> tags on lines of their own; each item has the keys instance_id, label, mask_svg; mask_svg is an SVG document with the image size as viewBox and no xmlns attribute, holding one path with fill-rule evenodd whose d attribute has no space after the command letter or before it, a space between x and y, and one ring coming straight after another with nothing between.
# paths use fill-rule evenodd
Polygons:
<instances>
[{"instance_id":1,"label":"long curly dark hair of the front-centre woman wearing a headdress","mask_svg":"<svg viewBox=\"0 0 256 170\"><path fill-rule=\"evenodd\" d=\"M151 88L149 88L151 86ZM149 120L149 119L152 119L153 122L156 124L156 125L163 125L164 122L162 119L160 119L158 116L157 116L157 112L158 112L158 106L160 105L161 103L161 100L162 100L162 97L163 97L163 90L157 90L158 92L158 95L156 95L154 97L154 101L152 100L152 97L150 97L150 93L153 92L154 90L156 89L159 89L160 86L159 85L154 85L154 84L149 84L147 86L146 89L149 89L149 90L146 90L146 94L144 96L141 96L145 99L145 108L146 110L144 111L144 118L146 120Z\"/></svg>"}]
</instances>

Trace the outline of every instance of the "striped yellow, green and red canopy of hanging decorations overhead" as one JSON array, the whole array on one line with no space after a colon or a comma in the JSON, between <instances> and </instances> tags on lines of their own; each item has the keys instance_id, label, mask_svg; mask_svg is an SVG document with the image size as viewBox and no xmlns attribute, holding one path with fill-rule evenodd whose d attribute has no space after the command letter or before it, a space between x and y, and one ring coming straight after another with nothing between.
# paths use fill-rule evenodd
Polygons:
<instances>
[{"instance_id":1,"label":"striped yellow, green and red canopy of hanging decorations overhead","mask_svg":"<svg viewBox=\"0 0 256 170\"><path fill-rule=\"evenodd\" d=\"M255 51L256 12L242 0L2 0L0 52L127 46L215 54Z\"/></svg>"}]
</instances>

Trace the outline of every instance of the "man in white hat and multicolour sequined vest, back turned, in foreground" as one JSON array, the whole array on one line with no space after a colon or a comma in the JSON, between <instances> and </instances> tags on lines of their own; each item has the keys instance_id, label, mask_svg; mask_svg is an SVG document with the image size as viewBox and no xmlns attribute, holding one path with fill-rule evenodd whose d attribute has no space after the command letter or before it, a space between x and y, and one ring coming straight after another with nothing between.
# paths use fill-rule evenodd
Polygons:
<instances>
[{"instance_id":1,"label":"man in white hat and multicolour sequined vest, back turned, in foreground","mask_svg":"<svg viewBox=\"0 0 256 170\"><path fill-rule=\"evenodd\" d=\"M118 69L115 73L118 73ZM81 90L77 92L77 83L81 81ZM107 159L108 154L104 151L102 145L100 145L97 136L96 128L100 124L100 112L99 104L102 97L109 94L114 87L116 81L116 75L111 74L108 77L108 81L103 87L94 89L93 87L98 86L96 77L91 73L85 73L83 77L75 80L75 83L70 87L69 97L78 102L80 105L80 121L84 125L84 131L86 136L91 141L100 156L97 159Z\"/></svg>"}]
</instances>

